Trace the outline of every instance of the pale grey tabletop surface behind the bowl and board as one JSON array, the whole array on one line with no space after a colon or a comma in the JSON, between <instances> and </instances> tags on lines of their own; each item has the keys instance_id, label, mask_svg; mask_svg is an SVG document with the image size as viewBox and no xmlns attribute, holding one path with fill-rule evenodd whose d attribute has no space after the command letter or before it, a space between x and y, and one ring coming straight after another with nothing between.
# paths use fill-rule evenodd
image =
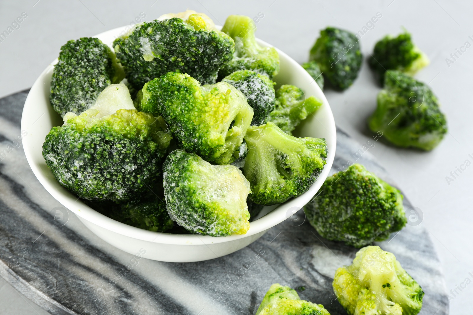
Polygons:
<instances>
[{"instance_id":1,"label":"pale grey tabletop surface behind the bowl and board","mask_svg":"<svg viewBox=\"0 0 473 315\"><path fill-rule=\"evenodd\" d=\"M448 185L446 176L473 159L472 70L473 47L454 63L446 58L469 42L473 44L473 3L447 0L347 0L347 1L92 1L30 0L0 1L0 33L26 12L27 17L0 43L0 97L29 88L43 69L58 56L70 39L92 36L128 25L140 13L146 20L168 12L194 9L222 25L230 14L264 17L257 23L256 35L302 63L326 26L362 30L377 12L382 17L361 37L361 49L369 56L374 43L385 34L397 34L401 26L409 30L415 43L431 64L416 76L429 83L447 115L449 133L433 151L423 153L385 145L381 141L369 149L392 174L404 193L423 212L423 224L438 250L446 277L447 290L465 286L473 272L473 166L470 165ZM143 14L142 13L142 14ZM366 30L364 29L364 30ZM472 35L472 39L468 36ZM366 58L359 78L343 93L326 90L339 127L366 144L366 118L376 107L379 87ZM372 145L371 145L372 146ZM402 232L401 232L402 233ZM471 314L473 284L451 294L451 314ZM316 302L316 301L314 301ZM0 314L46 314L33 302L0 281Z\"/></svg>"}]
</instances>

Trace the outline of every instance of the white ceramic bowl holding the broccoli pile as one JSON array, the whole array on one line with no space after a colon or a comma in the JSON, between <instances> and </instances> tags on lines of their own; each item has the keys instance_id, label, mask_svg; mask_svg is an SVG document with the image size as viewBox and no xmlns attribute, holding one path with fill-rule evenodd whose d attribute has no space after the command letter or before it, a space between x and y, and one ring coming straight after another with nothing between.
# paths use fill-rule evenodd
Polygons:
<instances>
[{"instance_id":1,"label":"white ceramic bowl holding the broccoli pile","mask_svg":"<svg viewBox=\"0 0 473 315\"><path fill-rule=\"evenodd\" d=\"M114 39L119 34L123 34L126 29L127 27L115 28L98 34L96 37L111 46ZM260 40L258 40L258 43L262 46L270 46ZM53 65L57 60L53 61L43 71L26 98L21 119L21 129L27 131L27 136L23 140L26 159L37 179L54 198L75 213L80 221L99 238L125 252L135 254L143 252L144 249L146 251L144 257L166 262L194 262L233 253L251 244L263 236L267 230L289 218L296 210L307 204L324 183L335 156L335 122L327 99L312 77L296 61L289 58L284 52L279 50L278 52L280 56L280 73L276 77L278 85L296 85L304 91L306 97L313 95L324 103L314 116L306 119L298 131L300 136L326 139L328 146L327 164L320 177L306 193L280 204L271 212L251 222L250 229L245 235L211 237L159 233L138 229L96 212L81 200L78 200L77 196L62 187L54 179L53 173L46 166L42 155L45 136L53 126L62 125L61 117L53 110L49 102L51 75ZM265 212L268 212L268 210L271 209L267 208ZM260 216L262 213L260 213Z\"/></svg>"}]
</instances>

